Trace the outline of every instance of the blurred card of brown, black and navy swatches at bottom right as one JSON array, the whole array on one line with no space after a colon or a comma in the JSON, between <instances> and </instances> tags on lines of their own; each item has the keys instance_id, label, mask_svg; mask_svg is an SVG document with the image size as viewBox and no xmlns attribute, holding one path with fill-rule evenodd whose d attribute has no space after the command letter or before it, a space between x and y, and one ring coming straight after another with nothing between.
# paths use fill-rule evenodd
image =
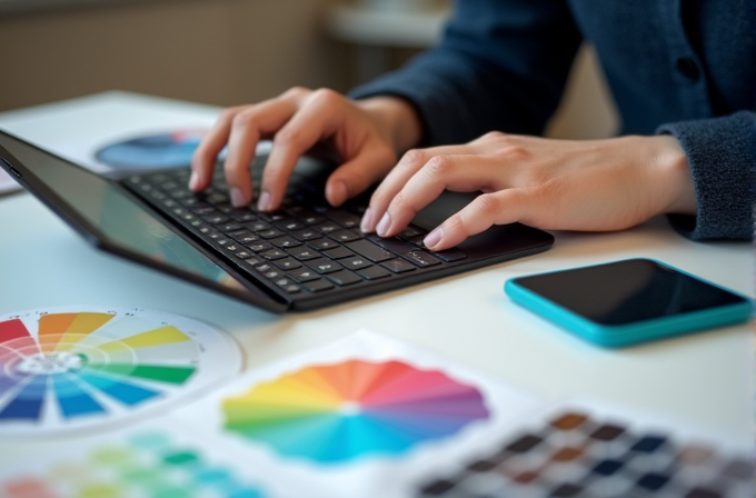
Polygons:
<instances>
[{"instance_id":1,"label":"blurred card of brown, black and navy swatches at bottom right","mask_svg":"<svg viewBox=\"0 0 756 498\"><path fill-rule=\"evenodd\" d=\"M531 414L416 498L753 498L753 446L596 401Z\"/></svg>"}]
</instances>

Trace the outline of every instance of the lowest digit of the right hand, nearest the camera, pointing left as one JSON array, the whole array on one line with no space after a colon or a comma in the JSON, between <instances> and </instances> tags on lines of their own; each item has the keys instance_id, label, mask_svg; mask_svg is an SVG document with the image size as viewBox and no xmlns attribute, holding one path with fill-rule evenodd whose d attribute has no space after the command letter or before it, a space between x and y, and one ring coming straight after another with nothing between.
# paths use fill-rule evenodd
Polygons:
<instances>
[{"instance_id":1,"label":"lowest digit of the right hand, nearest the camera, pointing left","mask_svg":"<svg viewBox=\"0 0 756 498\"><path fill-rule=\"evenodd\" d=\"M494 225L520 221L531 209L527 195L520 189L481 193L459 212L450 216L424 239L422 243L440 251L461 243L465 239Z\"/></svg>"}]
</instances>

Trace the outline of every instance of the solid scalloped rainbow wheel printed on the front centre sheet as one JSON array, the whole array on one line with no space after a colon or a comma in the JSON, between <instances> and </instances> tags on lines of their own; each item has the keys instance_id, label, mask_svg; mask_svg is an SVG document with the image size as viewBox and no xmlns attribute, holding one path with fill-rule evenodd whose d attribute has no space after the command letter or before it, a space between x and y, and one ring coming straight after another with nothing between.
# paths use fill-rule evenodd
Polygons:
<instances>
[{"instance_id":1,"label":"solid scalloped rainbow wheel printed on the front centre sheet","mask_svg":"<svg viewBox=\"0 0 756 498\"><path fill-rule=\"evenodd\" d=\"M287 457L399 455L490 417L472 386L401 361L312 366L223 401L225 428Z\"/></svg>"}]
</instances>

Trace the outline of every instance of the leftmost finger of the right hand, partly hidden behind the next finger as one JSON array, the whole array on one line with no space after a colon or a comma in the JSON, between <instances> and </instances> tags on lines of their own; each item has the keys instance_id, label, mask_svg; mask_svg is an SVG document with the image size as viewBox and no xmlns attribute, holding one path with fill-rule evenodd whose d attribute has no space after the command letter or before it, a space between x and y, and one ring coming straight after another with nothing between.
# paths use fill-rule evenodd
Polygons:
<instances>
[{"instance_id":1,"label":"leftmost finger of the right hand, partly hidden behind the next finger","mask_svg":"<svg viewBox=\"0 0 756 498\"><path fill-rule=\"evenodd\" d=\"M444 146L431 149L412 149L407 151L397 166L389 171L384 181L380 182L376 191L370 197L370 206L362 217L360 228L365 232L376 231L382 221L386 210L397 193L409 181L426 162L439 155L461 153L465 146Z\"/></svg>"}]
</instances>

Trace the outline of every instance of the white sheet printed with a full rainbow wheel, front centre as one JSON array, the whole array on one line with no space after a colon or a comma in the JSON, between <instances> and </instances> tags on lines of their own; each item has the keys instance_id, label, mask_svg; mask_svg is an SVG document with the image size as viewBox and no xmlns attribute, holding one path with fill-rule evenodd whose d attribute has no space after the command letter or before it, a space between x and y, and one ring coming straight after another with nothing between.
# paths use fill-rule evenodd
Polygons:
<instances>
[{"instance_id":1,"label":"white sheet printed with a full rainbow wheel, front centre","mask_svg":"<svg viewBox=\"0 0 756 498\"><path fill-rule=\"evenodd\" d=\"M178 417L223 440L273 492L406 497L438 462L471 458L537 402L360 331L245 375Z\"/></svg>"}]
</instances>

